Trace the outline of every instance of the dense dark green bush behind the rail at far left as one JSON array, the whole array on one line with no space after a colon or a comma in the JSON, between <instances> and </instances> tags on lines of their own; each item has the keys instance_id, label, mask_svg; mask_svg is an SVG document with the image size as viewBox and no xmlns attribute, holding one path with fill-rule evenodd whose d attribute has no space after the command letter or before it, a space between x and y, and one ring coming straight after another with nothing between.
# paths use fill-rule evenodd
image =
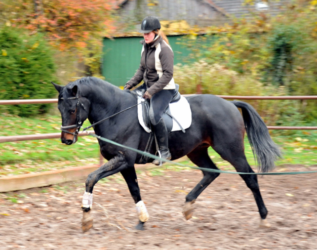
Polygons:
<instances>
[{"instance_id":1,"label":"dense dark green bush behind the rail at far left","mask_svg":"<svg viewBox=\"0 0 317 250\"><path fill-rule=\"evenodd\" d=\"M56 96L53 51L43 36L22 30L0 30L0 100L45 99ZM47 112L49 104L5 105L1 112L28 117Z\"/></svg>"}]
</instances>

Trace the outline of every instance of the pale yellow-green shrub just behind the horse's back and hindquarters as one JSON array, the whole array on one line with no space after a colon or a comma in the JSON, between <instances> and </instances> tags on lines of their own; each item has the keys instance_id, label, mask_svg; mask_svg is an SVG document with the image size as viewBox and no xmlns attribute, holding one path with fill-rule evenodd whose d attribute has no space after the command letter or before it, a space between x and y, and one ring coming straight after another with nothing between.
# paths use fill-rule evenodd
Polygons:
<instances>
[{"instance_id":1,"label":"pale yellow-green shrub just behind the horse's back and hindquarters","mask_svg":"<svg viewBox=\"0 0 317 250\"><path fill-rule=\"evenodd\" d=\"M174 67L175 83L180 85L181 94L197 92L214 95L241 96L285 96L285 86L261 83L257 75L238 74L219 64L208 64L204 60L191 65L178 64ZM304 115L299 100L242 100L250 103L263 118L266 125L304 125Z\"/></svg>"}]
</instances>

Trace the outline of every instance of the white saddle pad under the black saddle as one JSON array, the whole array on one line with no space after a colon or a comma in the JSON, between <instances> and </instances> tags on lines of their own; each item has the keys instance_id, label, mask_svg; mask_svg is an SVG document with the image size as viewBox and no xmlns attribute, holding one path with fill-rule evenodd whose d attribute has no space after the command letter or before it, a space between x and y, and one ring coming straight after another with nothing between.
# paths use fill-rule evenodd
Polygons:
<instances>
[{"instance_id":1,"label":"white saddle pad under the black saddle","mask_svg":"<svg viewBox=\"0 0 317 250\"><path fill-rule=\"evenodd\" d=\"M144 101L142 97L138 97L138 103ZM169 109L172 116L177 120L177 122L182 126L182 128L189 128L192 124L192 111L191 107L187 101L187 99L181 95L181 98L177 102L173 102L169 104ZM145 125L143 121L143 113L142 113L142 105L138 105L138 119L140 125L147 131L151 132L151 129ZM182 130L182 128L177 124L177 122L173 119L173 127L171 131Z\"/></svg>"}]
</instances>

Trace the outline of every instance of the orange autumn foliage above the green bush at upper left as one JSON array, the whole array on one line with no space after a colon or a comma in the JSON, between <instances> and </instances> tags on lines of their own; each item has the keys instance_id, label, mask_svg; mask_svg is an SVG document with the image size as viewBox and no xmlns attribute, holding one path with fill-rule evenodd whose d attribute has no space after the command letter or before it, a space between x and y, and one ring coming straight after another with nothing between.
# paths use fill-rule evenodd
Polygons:
<instances>
[{"instance_id":1,"label":"orange autumn foliage above the green bush at upper left","mask_svg":"<svg viewBox=\"0 0 317 250\"><path fill-rule=\"evenodd\" d=\"M35 13L32 1L24 4L25 15L16 24L31 32L44 31L60 50L84 48L86 41L111 30L113 0L39 0ZM22 3L19 3L22 6ZM83 32L84 31L84 32ZM103 34L105 35L105 34Z\"/></svg>"}]
</instances>

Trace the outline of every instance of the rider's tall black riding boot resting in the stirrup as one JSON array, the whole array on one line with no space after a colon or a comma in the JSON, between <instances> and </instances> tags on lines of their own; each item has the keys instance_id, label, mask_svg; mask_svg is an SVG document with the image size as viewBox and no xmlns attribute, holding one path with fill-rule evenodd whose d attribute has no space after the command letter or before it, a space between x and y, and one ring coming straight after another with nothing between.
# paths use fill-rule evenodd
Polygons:
<instances>
[{"instance_id":1,"label":"rider's tall black riding boot resting in the stirrup","mask_svg":"<svg viewBox=\"0 0 317 250\"><path fill-rule=\"evenodd\" d=\"M154 132L158 139L158 148L161 154L161 158L170 160L172 156L168 149L168 132L162 118L158 121L158 124L154 126ZM153 164L155 165L160 165L161 163L164 162L161 162L160 160L153 161Z\"/></svg>"}]
</instances>

